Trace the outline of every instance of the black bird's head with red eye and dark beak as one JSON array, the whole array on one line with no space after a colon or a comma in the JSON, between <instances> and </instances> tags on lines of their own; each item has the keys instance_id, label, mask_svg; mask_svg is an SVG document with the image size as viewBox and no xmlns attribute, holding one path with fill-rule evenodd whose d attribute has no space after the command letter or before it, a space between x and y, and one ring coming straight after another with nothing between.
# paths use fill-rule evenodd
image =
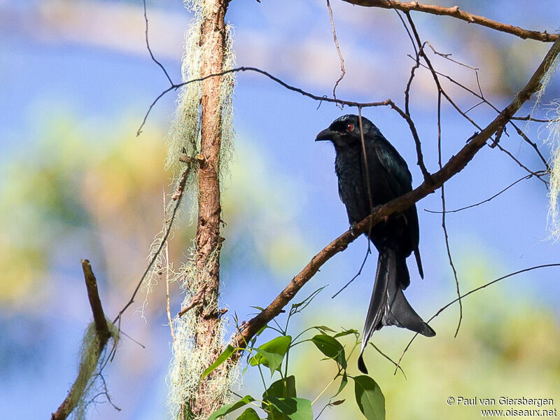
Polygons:
<instances>
[{"instance_id":1,"label":"black bird's head with red eye and dark beak","mask_svg":"<svg viewBox=\"0 0 560 420\"><path fill-rule=\"evenodd\" d=\"M362 117L364 138L367 134L377 134L379 130L373 123ZM361 144L360 118L353 114L342 116L332 121L328 128L317 134L315 141L332 141L337 149L359 147Z\"/></svg>"}]
</instances>

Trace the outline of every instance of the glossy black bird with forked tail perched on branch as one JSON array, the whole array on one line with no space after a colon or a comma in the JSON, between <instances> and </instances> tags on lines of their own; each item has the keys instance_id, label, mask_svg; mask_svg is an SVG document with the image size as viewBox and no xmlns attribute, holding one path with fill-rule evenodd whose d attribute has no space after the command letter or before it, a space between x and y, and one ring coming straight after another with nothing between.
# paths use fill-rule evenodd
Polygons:
<instances>
[{"instance_id":1,"label":"glossy black bird with forked tail perched on branch","mask_svg":"<svg viewBox=\"0 0 560 420\"><path fill-rule=\"evenodd\" d=\"M337 118L316 137L316 141L329 140L335 146L338 192L351 224L362 221L373 207L412 190L412 176L405 160L370 120L363 117L361 120L363 144L360 120L355 115ZM365 373L363 350L374 330L384 325L398 325L427 337L435 335L402 293L410 284L406 258L412 252L423 278L416 206L389 216L366 235L379 251L379 258L358 358L358 367Z\"/></svg>"}]
</instances>

